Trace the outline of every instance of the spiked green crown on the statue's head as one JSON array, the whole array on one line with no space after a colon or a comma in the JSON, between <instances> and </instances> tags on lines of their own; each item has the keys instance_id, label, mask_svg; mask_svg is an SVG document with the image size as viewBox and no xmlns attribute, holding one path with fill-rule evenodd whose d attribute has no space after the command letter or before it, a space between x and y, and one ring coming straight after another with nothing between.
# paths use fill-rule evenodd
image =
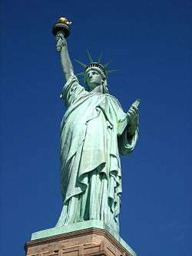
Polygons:
<instances>
[{"instance_id":1,"label":"spiked green crown on the statue's head","mask_svg":"<svg viewBox=\"0 0 192 256\"><path fill-rule=\"evenodd\" d=\"M93 61L93 58L91 57L91 54L88 52L88 50L87 50L87 54L88 54L88 60L90 62L87 65L84 64L83 62L78 61L77 59L74 59L75 62L78 62L78 64L84 68L83 72L76 74L76 75L83 75L84 81L86 81L86 76L88 74L88 71L90 71L91 69L97 70L101 74L101 76L105 79L108 77L109 74L113 73L114 71L117 71L117 70L107 70L108 65L110 65L111 62L108 62L104 65L101 64L102 54L99 55L97 62Z\"/></svg>"}]
</instances>

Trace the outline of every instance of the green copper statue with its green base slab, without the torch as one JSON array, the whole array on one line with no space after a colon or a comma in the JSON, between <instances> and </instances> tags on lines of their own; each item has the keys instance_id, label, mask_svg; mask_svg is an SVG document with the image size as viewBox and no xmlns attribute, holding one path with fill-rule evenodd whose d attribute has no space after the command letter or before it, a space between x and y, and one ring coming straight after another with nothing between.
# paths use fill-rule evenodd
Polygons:
<instances>
[{"instance_id":1,"label":"green copper statue with its green base slab, without the torch","mask_svg":"<svg viewBox=\"0 0 192 256\"><path fill-rule=\"evenodd\" d=\"M58 32L55 38L66 80L60 96L66 107L60 129L63 205L56 227L38 231L31 239L101 228L132 251L119 236L120 155L129 155L137 143L140 101L124 112L109 94L108 64L102 65L101 57L93 62L89 52L88 65L78 61L84 68L85 86L80 85L64 34Z\"/></svg>"}]
</instances>

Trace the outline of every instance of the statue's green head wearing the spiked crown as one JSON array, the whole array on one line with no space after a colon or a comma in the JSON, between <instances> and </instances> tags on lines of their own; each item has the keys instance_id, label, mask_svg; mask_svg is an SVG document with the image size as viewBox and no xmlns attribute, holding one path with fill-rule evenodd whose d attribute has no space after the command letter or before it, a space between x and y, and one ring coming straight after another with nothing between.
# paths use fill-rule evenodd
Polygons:
<instances>
[{"instance_id":1,"label":"statue's green head wearing the spiked crown","mask_svg":"<svg viewBox=\"0 0 192 256\"><path fill-rule=\"evenodd\" d=\"M88 91L92 91L95 87L102 85L103 93L108 93L108 74L111 74L114 70L107 71L106 68L111 62L108 62L105 65L101 65L101 55L99 56L98 61L94 62L89 52L88 60L90 63L86 65L75 59L75 61L84 68L84 72L81 72L77 75L84 76L84 83L88 86Z\"/></svg>"}]
</instances>

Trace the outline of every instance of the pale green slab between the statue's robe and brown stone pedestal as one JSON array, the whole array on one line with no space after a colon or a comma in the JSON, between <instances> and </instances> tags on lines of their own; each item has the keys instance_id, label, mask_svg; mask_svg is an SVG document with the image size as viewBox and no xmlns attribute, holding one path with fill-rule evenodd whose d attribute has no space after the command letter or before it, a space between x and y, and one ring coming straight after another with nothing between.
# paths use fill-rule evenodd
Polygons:
<instances>
[{"instance_id":1,"label":"pale green slab between the statue's robe and brown stone pedestal","mask_svg":"<svg viewBox=\"0 0 192 256\"><path fill-rule=\"evenodd\" d=\"M87 228L101 228L107 230L127 251L136 256L134 250L107 224L103 221L81 221L75 224L68 224L62 227L48 228L42 231L35 232L31 235L31 240L40 238L48 238L57 234L66 234L73 231L80 231Z\"/></svg>"}]
</instances>

